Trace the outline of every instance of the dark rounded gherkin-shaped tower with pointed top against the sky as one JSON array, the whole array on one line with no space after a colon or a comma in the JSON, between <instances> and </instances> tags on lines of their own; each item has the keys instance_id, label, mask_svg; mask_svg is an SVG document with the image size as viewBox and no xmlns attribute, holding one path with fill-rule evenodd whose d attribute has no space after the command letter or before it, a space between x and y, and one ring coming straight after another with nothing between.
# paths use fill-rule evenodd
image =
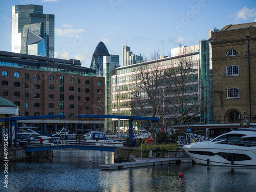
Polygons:
<instances>
[{"instance_id":1,"label":"dark rounded gherkin-shaped tower with pointed top against the sky","mask_svg":"<svg viewBox=\"0 0 256 192\"><path fill-rule=\"evenodd\" d=\"M96 70L96 75L103 76L103 56L110 56L105 44L100 41L97 45L91 62L91 69Z\"/></svg>"}]
</instances>

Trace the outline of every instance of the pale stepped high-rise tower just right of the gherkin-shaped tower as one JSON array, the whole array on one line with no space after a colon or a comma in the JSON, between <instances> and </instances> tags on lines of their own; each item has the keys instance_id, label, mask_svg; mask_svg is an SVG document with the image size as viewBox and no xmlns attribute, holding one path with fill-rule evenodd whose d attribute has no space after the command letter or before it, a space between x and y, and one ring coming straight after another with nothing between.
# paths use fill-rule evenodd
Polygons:
<instances>
[{"instance_id":1,"label":"pale stepped high-rise tower just right of the gherkin-shaped tower","mask_svg":"<svg viewBox=\"0 0 256 192\"><path fill-rule=\"evenodd\" d=\"M130 66L143 62L143 57L135 55L128 46L123 46L123 66Z\"/></svg>"}]
</instances>

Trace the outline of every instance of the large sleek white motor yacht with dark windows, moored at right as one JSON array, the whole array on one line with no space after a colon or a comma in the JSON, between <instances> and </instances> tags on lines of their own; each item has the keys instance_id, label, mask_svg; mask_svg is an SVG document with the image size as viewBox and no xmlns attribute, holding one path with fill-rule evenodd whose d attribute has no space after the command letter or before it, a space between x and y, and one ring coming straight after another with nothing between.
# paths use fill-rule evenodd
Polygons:
<instances>
[{"instance_id":1,"label":"large sleek white motor yacht with dark windows, moored at right","mask_svg":"<svg viewBox=\"0 0 256 192\"><path fill-rule=\"evenodd\" d=\"M183 150L198 164L256 167L256 127L239 128L214 139L186 133Z\"/></svg>"}]
</instances>

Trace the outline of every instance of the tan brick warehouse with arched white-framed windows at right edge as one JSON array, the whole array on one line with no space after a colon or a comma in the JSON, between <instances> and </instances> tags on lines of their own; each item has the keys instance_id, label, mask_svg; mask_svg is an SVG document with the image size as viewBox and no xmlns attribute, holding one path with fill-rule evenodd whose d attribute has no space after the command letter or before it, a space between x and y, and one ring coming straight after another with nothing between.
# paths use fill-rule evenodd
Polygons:
<instances>
[{"instance_id":1,"label":"tan brick warehouse with arched white-framed windows at right edge","mask_svg":"<svg viewBox=\"0 0 256 192\"><path fill-rule=\"evenodd\" d=\"M215 123L255 122L256 23L227 25L209 41Z\"/></svg>"}]
</instances>

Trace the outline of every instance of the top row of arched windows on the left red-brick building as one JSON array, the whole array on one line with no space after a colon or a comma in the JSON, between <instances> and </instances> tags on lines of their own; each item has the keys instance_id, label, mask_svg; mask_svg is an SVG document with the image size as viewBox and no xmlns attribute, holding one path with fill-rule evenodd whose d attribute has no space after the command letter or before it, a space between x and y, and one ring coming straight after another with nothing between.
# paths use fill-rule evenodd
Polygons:
<instances>
[{"instance_id":1,"label":"top row of arched windows on the left red-brick building","mask_svg":"<svg viewBox=\"0 0 256 192\"><path fill-rule=\"evenodd\" d=\"M7 71L2 71L2 76L6 76L6 77L8 77L9 76L9 74L8 74L8 72ZM14 77L18 77L18 78L20 78L20 73L19 72L15 72L14 73ZM57 78L59 77L59 82L60 83L63 83L64 82L64 76L57 76ZM56 78L56 79L57 79ZM25 79L29 79L29 74L27 74L27 73L25 73ZM35 75L34 76L34 80L40 80L40 76L39 75ZM54 80L54 77L52 76L52 75L50 75L49 77L48 77L48 80L49 81L53 81ZM69 78L69 82L71 82L71 83L75 83L75 79L74 78ZM77 79L77 83L78 84L81 84L81 80L80 79ZM84 82L84 84L90 84L90 81L89 80L86 80L85 82ZM101 86L102 85L102 82L100 81L100 80L98 80L97 81L97 86Z\"/></svg>"}]
</instances>

